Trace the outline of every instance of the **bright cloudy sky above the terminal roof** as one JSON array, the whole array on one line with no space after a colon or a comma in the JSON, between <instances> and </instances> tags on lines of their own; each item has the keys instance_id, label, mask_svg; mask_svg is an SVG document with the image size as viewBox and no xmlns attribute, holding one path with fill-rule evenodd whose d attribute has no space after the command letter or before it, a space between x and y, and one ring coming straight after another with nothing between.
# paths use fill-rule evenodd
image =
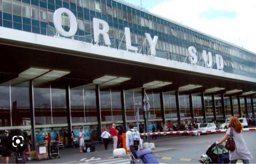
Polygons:
<instances>
[{"instance_id":1,"label":"bright cloudy sky above the terminal roof","mask_svg":"<svg viewBox=\"0 0 256 164\"><path fill-rule=\"evenodd\" d=\"M255 0L142 0L142 7L256 53Z\"/></svg>"}]
</instances>

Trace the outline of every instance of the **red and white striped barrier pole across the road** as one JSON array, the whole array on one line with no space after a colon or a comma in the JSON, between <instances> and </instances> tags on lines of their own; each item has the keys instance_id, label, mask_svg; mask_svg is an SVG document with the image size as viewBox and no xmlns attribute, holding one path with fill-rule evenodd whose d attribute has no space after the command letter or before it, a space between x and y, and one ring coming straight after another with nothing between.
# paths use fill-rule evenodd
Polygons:
<instances>
[{"instance_id":1,"label":"red and white striped barrier pole across the road","mask_svg":"<svg viewBox=\"0 0 256 164\"><path fill-rule=\"evenodd\" d=\"M227 129L219 130L197 130L197 131L167 131L167 132L156 132L156 133L140 133L140 135L157 135L157 134L195 134L195 133L221 133L226 132ZM243 128L243 131L256 131L256 128Z\"/></svg>"}]
</instances>

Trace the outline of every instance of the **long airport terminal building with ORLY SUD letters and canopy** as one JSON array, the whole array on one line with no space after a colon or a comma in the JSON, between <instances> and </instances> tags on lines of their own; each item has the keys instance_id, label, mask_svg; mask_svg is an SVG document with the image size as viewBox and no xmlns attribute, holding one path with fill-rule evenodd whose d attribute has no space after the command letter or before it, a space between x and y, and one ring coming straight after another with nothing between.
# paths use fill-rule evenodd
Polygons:
<instances>
[{"instance_id":1,"label":"long airport terminal building with ORLY SUD letters and canopy","mask_svg":"<svg viewBox=\"0 0 256 164\"><path fill-rule=\"evenodd\" d=\"M36 143L82 127L96 141L147 116L161 131L255 114L256 54L236 45L117 0L0 0L0 11L0 130Z\"/></svg>"}]
</instances>

